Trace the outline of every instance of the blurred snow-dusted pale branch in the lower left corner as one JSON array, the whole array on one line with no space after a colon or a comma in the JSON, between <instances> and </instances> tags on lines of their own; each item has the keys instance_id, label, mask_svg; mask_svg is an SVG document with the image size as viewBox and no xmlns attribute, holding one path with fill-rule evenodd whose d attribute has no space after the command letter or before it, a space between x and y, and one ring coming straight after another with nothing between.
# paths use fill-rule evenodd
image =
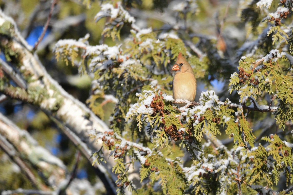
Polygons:
<instances>
[{"instance_id":1,"label":"blurred snow-dusted pale branch in the lower left corner","mask_svg":"<svg viewBox=\"0 0 293 195\"><path fill-rule=\"evenodd\" d=\"M40 183L44 178L49 181L49 177L54 178L54 182L59 183L65 178L66 167L63 162L51 155L46 149L38 145L37 141L30 134L19 129L12 121L0 113L0 136L1 148L18 165L34 186L42 190L48 187ZM21 153L21 155L18 155ZM27 163L37 167L43 174L43 179L38 174L30 170ZM38 180L37 180L38 178ZM54 184L47 182L50 187Z\"/></svg>"}]
</instances>

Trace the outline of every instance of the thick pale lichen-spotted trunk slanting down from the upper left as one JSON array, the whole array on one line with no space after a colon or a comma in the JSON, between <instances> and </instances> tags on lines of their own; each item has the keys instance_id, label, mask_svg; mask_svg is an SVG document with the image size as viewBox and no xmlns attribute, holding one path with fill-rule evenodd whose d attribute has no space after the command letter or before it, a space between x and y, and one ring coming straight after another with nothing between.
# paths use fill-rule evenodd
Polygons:
<instances>
[{"instance_id":1,"label":"thick pale lichen-spotted trunk slanting down from the upper left","mask_svg":"<svg viewBox=\"0 0 293 195\"><path fill-rule=\"evenodd\" d=\"M0 68L5 72L0 77L0 92L11 99L39 107L64 127L62 128L64 133L91 161L91 154L100 149L101 142L97 144L88 134L92 130L108 131L108 126L52 79L38 56L32 53L30 46L18 32L14 21L2 11L0 11L0 40L1 51L6 57L6 61L0 61ZM11 84L9 78L18 86ZM4 117L1 115L0 119L3 122ZM1 134L6 137L8 134L4 125ZM17 148L19 143L15 137L11 137L10 141ZM116 176L111 171L114 161L107 151L105 157L108 158L107 164L95 166L104 174L108 185L114 189L112 182Z\"/></svg>"}]
</instances>

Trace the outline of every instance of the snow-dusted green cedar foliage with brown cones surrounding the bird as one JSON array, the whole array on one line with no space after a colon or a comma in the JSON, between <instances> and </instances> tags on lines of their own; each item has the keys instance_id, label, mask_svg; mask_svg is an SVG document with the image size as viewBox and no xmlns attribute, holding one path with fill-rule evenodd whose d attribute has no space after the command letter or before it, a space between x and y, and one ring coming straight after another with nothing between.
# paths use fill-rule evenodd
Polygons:
<instances>
[{"instance_id":1,"label":"snow-dusted green cedar foliage with brown cones surrounding the bird","mask_svg":"<svg viewBox=\"0 0 293 195\"><path fill-rule=\"evenodd\" d=\"M195 6L195 1L188 1L189 4ZM263 15L270 6L269 1L252 1L242 11L254 33L260 30L261 21L272 23L263 33L267 37L261 40L269 45L266 49L273 49L267 52L262 46L251 46L254 49L239 59L238 70L229 81L229 92L239 95L237 103L228 98L220 101L210 90L200 94L198 103L184 101L186 105L178 108L176 103L182 101L168 94L170 66L180 51L196 62L191 64L197 79L207 78L207 69L218 77L222 70L229 69L229 62L217 54L213 41L206 38L200 43L209 44L208 51L202 50L208 55L201 59L190 57L182 34L172 28L140 29L119 2L102 4L96 15L97 21L107 18L102 34L113 41L121 40L122 28L128 27L127 38L119 45L91 46L88 35L56 44L57 58L78 65L81 74L92 76L92 95L87 103L96 115L103 116L100 99L115 102L110 120L113 130L92 133L91 137L103 141L103 149L93 155L95 163L107 161L103 150L110 150L115 158L113 172L118 175L118 194L269 194L275 193L281 177L286 179L287 187L292 186L293 144L277 134L260 137L259 144L253 130L257 119L249 117L249 113L260 116L257 113L267 112L280 130L287 130L292 124L292 27L283 23L292 5L281 1L276 12ZM177 12L184 17L196 13L194 9ZM217 65L222 67L219 73L212 70ZM232 148L218 140L222 134L233 139ZM185 162L184 155L190 156L190 161ZM130 179L133 168L139 172L139 185ZM158 184L160 188L152 189ZM292 194L292 190L281 189L279 193Z\"/></svg>"}]
</instances>

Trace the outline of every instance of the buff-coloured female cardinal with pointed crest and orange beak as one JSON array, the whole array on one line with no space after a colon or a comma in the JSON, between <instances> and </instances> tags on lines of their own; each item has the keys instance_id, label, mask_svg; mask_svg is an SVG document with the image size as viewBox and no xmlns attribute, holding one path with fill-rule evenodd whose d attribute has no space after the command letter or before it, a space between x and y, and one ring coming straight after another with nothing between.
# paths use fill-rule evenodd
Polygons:
<instances>
[{"instance_id":1,"label":"buff-coloured female cardinal with pointed crest and orange beak","mask_svg":"<svg viewBox=\"0 0 293 195\"><path fill-rule=\"evenodd\" d=\"M176 71L173 78L173 98L194 101L196 94L196 80L190 64L182 56L181 52L179 53L172 70Z\"/></svg>"}]
</instances>

